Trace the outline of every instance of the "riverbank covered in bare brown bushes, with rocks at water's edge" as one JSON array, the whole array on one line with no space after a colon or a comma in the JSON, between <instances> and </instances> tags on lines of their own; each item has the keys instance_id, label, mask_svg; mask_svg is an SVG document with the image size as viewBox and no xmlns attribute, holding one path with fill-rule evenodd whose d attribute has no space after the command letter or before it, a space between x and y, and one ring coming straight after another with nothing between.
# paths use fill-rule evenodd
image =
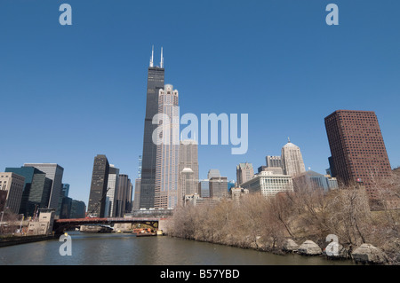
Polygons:
<instances>
[{"instance_id":1,"label":"riverbank covered in bare brown bushes, with rocks at water's edge","mask_svg":"<svg viewBox=\"0 0 400 283\"><path fill-rule=\"evenodd\" d=\"M253 193L239 202L176 208L167 230L182 239L278 254L292 240L299 250L291 252L299 255L322 255L326 249L325 256L335 259L395 265L400 264L399 219L400 210L371 211L365 192L356 188L325 194L299 187L275 198Z\"/></svg>"}]
</instances>

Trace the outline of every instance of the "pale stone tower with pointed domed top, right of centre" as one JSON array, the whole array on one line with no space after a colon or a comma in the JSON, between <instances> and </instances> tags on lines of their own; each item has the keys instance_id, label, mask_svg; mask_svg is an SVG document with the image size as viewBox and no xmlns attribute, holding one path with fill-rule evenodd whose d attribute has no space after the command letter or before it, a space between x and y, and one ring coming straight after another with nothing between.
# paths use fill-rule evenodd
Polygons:
<instances>
[{"instance_id":1,"label":"pale stone tower with pointed domed top, right of centre","mask_svg":"<svg viewBox=\"0 0 400 283\"><path fill-rule=\"evenodd\" d=\"M282 169L284 175L296 176L306 172L303 157L300 153L300 147L291 143L288 138L288 143L282 147Z\"/></svg>"}]
</instances>

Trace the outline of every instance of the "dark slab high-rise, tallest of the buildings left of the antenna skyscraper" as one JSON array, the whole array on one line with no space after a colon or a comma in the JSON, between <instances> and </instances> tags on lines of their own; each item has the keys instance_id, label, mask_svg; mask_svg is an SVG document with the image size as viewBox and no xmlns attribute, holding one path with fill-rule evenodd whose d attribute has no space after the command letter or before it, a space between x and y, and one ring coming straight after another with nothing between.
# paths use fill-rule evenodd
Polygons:
<instances>
[{"instance_id":1,"label":"dark slab high-rise, tallest of the buildings left of the antenna skyscraper","mask_svg":"<svg viewBox=\"0 0 400 283\"><path fill-rule=\"evenodd\" d=\"M106 155L94 157L91 191L87 212L89 216L104 217L108 191L109 163Z\"/></svg>"}]
</instances>

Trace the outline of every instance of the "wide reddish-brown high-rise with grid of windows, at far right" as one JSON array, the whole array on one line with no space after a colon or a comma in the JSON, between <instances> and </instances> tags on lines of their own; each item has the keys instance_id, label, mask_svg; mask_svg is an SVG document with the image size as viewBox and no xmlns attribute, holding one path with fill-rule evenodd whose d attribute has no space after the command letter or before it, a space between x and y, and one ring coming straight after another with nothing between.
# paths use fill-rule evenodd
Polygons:
<instances>
[{"instance_id":1,"label":"wide reddish-brown high-rise with grid of windows, at far right","mask_svg":"<svg viewBox=\"0 0 400 283\"><path fill-rule=\"evenodd\" d=\"M332 177L337 177L342 184L362 183L374 199L372 188L391 173L376 114L337 110L324 121L332 153Z\"/></svg>"}]
</instances>

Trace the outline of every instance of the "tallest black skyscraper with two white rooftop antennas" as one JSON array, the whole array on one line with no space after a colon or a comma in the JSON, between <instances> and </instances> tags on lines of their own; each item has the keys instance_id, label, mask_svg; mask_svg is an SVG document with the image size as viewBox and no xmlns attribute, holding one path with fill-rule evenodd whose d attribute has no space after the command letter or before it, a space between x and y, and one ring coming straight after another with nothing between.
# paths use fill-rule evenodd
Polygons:
<instances>
[{"instance_id":1,"label":"tallest black skyscraper with two white rooftop antennas","mask_svg":"<svg viewBox=\"0 0 400 283\"><path fill-rule=\"evenodd\" d=\"M164 58L161 50L160 67L153 65L154 51L148 67L148 94L143 135L143 154L141 163L140 208L154 208L156 185L156 144L153 132L158 125L153 124L153 117L158 113L158 92L164 89Z\"/></svg>"}]
</instances>

